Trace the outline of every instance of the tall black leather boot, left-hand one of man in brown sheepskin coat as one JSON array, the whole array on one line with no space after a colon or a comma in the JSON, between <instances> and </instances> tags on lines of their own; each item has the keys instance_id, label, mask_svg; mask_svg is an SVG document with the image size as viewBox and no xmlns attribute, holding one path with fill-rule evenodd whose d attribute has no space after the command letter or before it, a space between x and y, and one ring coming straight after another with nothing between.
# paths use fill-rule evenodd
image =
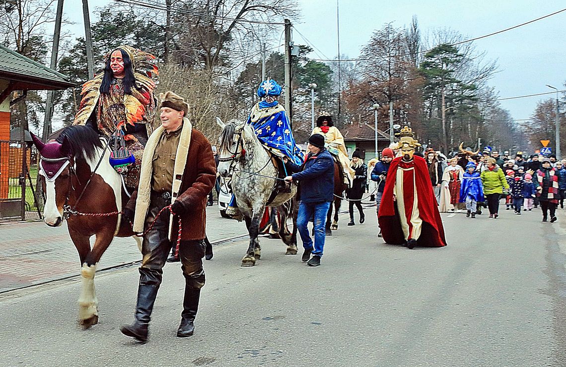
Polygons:
<instances>
[{"instance_id":1,"label":"tall black leather boot, left-hand one of man in brown sheepskin coat","mask_svg":"<svg viewBox=\"0 0 566 367\"><path fill-rule=\"evenodd\" d=\"M134 313L135 321L132 325L122 325L120 331L126 336L138 339L140 342L147 342L147 331L153 304L157 297L158 284L143 283L144 275L141 275L138 286L138 303Z\"/></svg>"}]
</instances>

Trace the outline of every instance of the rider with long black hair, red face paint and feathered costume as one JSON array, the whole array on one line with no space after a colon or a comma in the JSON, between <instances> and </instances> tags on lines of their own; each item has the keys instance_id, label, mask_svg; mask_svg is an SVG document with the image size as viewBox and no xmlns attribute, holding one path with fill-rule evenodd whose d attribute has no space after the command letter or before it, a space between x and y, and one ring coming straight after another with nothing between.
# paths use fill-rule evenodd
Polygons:
<instances>
[{"instance_id":1,"label":"rider with long black hair, red face paint and feathered costume","mask_svg":"<svg viewBox=\"0 0 566 367\"><path fill-rule=\"evenodd\" d=\"M109 51L104 70L83 84L73 122L92 126L110 138L110 150L115 152L111 164L118 172L127 172L135 159L130 170L135 167L136 178L143 148L153 131L157 98L152 78L157 75L155 56L131 46ZM126 178L126 184L135 186L137 182L128 184Z\"/></svg>"}]
</instances>

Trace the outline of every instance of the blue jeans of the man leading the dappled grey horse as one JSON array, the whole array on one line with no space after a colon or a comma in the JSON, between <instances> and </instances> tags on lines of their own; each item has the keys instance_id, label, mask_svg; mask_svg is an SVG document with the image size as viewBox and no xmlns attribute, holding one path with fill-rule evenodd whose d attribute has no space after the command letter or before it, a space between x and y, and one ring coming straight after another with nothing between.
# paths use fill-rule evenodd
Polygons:
<instances>
[{"instance_id":1,"label":"blue jeans of the man leading the dappled grey horse","mask_svg":"<svg viewBox=\"0 0 566 367\"><path fill-rule=\"evenodd\" d=\"M311 249L312 239L308 233L308 221L314 214L314 230L315 230L315 244L313 255L322 256L324 249L324 239L326 237L326 215L330 208L330 202L303 202L299 204L299 213L297 214L297 230L301 235L303 247Z\"/></svg>"}]
</instances>

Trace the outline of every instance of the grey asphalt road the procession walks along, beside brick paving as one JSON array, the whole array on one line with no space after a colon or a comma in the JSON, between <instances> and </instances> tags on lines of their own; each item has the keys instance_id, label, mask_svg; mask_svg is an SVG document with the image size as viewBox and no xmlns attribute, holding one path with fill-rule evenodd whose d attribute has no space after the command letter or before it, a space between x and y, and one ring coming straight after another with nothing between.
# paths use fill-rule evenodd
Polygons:
<instances>
[{"instance_id":1,"label":"grey asphalt road the procession walks along, beside brick paving","mask_svg":"<svg viewBox=\"0 0 566 367\"><path fill-rule=\"evenodd\" d=\"M535 209L536 210L536 209ZM320 267L261 239L215 247L195 335L175 337L183 278L165 267L147 344L132 321L136 267L98 274L99 323L76 323L78 278L0 296L2 366L564 366L566 211L497 220L443 214L448 247L409 250L365 224L327 239ZM243 225L243 224L242 224ZM72 251L72 249L70 249Z\"/></svg>"}]
</instances>

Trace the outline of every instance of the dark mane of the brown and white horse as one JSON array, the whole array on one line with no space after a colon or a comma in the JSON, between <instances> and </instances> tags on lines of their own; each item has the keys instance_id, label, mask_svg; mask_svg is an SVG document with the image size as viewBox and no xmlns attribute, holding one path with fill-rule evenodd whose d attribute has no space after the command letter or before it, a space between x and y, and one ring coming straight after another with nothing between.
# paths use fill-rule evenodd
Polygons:
<instances>
[{"instance_id":1,"label":"dark mane of the brown and white horse","mask_svg":"<svg viewBox=\"0 0 566 367\"><path fill-rule=\"evenodd\" d=\"M92 127L83 125L66 127L55 141L61 143L70 154L80 154L85 159L94 159L96 148L104 148L98 133Z\"/></svg>"}]
</instances>

